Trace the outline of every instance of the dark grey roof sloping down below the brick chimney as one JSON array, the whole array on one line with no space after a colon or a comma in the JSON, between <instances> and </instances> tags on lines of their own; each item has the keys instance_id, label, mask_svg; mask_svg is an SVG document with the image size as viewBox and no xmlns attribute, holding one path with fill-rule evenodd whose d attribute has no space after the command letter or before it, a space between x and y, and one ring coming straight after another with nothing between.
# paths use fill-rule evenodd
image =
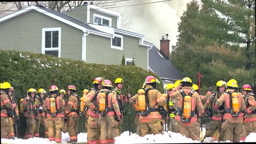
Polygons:
<instances>
[{"instance_id":1,"label":"dark grey roof sloping down below the brick chimney","mask_svg":"<svg viewBox=\"0 0 256 144\"><path fill-rule=\"evenodd\" d=\"M148 43L148 42L147 42ZM181 80L183 75L155 45L149 49L148 67L163 80Z\"/></svg>"}]
</instances>

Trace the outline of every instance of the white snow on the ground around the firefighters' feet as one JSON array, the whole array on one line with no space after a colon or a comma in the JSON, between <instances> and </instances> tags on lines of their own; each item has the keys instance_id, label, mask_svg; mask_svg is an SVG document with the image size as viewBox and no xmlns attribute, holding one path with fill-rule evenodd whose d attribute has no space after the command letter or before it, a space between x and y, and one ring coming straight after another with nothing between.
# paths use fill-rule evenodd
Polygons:
<instances>
[{"instance_id":1,"label":"white snow on the ground around the firefighters' feet","mask_svg":"<svg viewBox=\"0 0 256 144\"><path fill-rule=\"evenodd\" d=\"M203 128L203 136L205 135L205 128ZM200 134L201 137L201 134ZM77 142L87 142L87 133L80 133L77 136ZM66 143L70 140L68 133L62 132L61 142ZM158 135L146 135L144 137L139 137L136 134L131 134L129 136L129 131L125 131L120 136L115 138L115 143L200 143L200 141L193 141L185 136L182 136L179 133L173 133L171 131L164 131L163 134ZM200 138L201 140L201 138ZM203 141L204 143L213 143L218 142L214 141L211 137L206 137ZM229 141L226 141L229 142ZM256 142L256 133L251 133L246 137L245 141L240 142ZM28 140L16 139L15 140L8 140L8 139L1 139L1 143L34 143L34 144L46 144L46 143L56 143L55 141L49 141L48 139L33 137Z\"/></svg>"}]
</instances>

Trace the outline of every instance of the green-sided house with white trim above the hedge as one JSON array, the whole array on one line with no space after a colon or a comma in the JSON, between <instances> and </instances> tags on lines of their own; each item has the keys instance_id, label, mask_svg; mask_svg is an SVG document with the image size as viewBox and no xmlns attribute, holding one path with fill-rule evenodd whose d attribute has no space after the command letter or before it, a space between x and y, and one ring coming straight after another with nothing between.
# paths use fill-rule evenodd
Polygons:
<instances>
[{"instance_id":1,"label":"green-sided house with white trim above the hedge","mask_svg":"<svg viewBox=\"0 0 256 144\"><path fill-rule=\"evenodd\" d=\"M121 16L95 5L83 5L59 13L32 5L0 18L0 49L18 50L87 63L126 64L133 56L148 70L152 45L144 35L121 29Z\"/></svg>"}]
</instances>

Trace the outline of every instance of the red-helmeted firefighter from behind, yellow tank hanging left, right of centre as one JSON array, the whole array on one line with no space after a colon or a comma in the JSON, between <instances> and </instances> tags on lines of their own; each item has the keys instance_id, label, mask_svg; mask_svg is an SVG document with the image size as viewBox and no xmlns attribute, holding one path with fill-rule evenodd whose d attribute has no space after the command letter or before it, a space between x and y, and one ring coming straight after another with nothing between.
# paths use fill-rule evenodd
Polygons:
<instances>
[{"instance_id":1,"label":"red-helmeted firefighter from behind, yellow tank hanging left, right of centre","mask_svg":"<svg viewBox=\"0 0 256 144\"><path fill-rule=\"evenodd\" d=\"M161 107L166 104L166 99L156 89L156 83L160 83L154 76L147 76L144 89L139 89L138 94L130 99L132 104L138 101L141 112L139 116L139 125L141 127L141 136L153 133L161 134L164 130L164 121L161 117ZM146 102L146 101L147 102ZM145 104L146 105L143 105ZM145 111L148 109L147 111ZM144 111L143 111L144 110Z\"/></svg>"}]
</instances>

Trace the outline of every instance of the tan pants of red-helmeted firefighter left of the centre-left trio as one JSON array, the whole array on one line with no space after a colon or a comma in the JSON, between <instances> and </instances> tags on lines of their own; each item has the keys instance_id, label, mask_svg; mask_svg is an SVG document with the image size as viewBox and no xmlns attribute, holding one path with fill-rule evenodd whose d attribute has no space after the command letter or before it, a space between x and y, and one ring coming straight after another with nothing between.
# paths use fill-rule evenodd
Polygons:
<instances>
[{"instance_id":1,"label":"tan pants of red-helmeted firefighter left of the centre-left trio","mask_svg":"<svg viewBox=\"0 0 256 144\"><path fill-rule=\"evenodd\" d=\"M77 142L77 125L79 118L74 117L74 115L68 117L67 121L67 131L70 136L71 142Z\"/></svg>"}]
</instances>

